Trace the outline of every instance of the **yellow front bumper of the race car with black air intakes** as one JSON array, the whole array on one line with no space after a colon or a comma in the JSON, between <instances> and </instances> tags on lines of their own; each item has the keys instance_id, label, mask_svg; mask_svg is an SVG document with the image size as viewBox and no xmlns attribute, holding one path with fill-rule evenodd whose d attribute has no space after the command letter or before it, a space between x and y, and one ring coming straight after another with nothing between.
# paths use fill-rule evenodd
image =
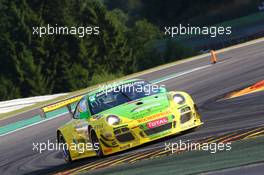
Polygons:
<instances>
[{"instance_id":1,"label":"yellow front bumper of the race car with black air intakes","mask_svg":"<svg viewBox=\"0 0 264 175\"><path fill-rule=\"evenodd\" d=\"M165 119L167 122L156 127L148 126L148 123L159 119ZM109 155L177 134L202 124L195 106L185 105L177 110L168 109L157 114L156 117L146 117L146 120L132 121L125 125L112 127L111 134L109 134L109 130L107 134L101 133L99 140L104 154Z\"/></svg>"}]
</instances>

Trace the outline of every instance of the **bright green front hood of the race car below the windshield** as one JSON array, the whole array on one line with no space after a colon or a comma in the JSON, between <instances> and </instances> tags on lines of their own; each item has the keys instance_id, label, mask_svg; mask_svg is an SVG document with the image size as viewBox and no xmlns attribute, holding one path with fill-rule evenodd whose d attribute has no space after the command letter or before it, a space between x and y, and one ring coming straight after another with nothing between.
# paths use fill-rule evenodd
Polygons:
<instances>
[{"instance_id":1,"label":"bright green front hood of the race car below the windshield","mask_svg":"<svg viewBox=\"0 0 264 175\"><path fill-rule=\"evenodd\" d=\"M111 114L128 119L140 119L145 116L160 113L169 107L167 93L155 94L131 102L124 103L101 114Z\"/></svg>"}]
</instances>

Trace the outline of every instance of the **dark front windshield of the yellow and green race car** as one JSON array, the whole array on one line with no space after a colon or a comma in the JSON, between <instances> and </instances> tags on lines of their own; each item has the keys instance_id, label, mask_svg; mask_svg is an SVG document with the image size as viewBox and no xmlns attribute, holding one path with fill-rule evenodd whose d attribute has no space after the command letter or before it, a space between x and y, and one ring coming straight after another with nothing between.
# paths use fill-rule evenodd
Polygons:
<instances>
[{"instance_id":1,"label":"dark front windshield of the yellow and green race car","mask_svg":"<svg viewBox=\"0 0 264 175\"><path fill-rule=\"evenodd\" d=\"M105 91L89 96L89 108L91 114L97 114L123 103L133 101L159 92L146 81L134 81L131 83L113 86Z\"/></svg>"}]
</instances>

